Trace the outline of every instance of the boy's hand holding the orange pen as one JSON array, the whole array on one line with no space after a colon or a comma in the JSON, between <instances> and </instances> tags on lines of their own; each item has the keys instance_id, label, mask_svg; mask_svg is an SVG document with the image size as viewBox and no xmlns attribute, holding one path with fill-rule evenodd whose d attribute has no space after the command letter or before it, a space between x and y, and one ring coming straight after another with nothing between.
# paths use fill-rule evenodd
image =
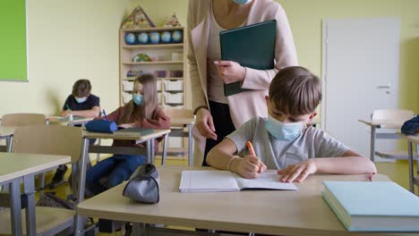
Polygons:
<instances>
[{"instance_id":1,"label":"boy's hand holding the orange pen","mask_svg":"<svg viewBox=\"0 0 419 236\"><path fill-rule=\"evenodd\" d=\"M237 158L237 160L233 171L246 179L256 179L261 173L266 171L266 165L256 156L249 155L243 159Z\"/></svg>"}]
</instances>

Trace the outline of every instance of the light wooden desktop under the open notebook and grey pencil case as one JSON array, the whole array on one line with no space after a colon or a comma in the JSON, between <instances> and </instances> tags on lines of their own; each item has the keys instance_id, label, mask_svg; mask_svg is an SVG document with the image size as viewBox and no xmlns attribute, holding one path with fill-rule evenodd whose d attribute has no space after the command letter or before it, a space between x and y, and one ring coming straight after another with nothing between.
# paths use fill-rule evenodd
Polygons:
<instances>
[{"instance_id":1,"label":"light wooden desktop under the open notebook and grey pencil case","mask_svg":"<svg viewBox=\"0 0 419 236\"><path fill-rule=\"evenodd\" d=\"M136 223L163 223L273 235L365 235L347 232L321 197L321 181L366 181L367 175L312 175L296 191L180 193L184 166L162 166L160 202L140 204L122 196L125 183L81 202L77 214ZM389 181L381 174L373 181ZM137 225L137 224L136 224ZM407 235L368 233L368 235Z\"/></svg>"}]
</instances>

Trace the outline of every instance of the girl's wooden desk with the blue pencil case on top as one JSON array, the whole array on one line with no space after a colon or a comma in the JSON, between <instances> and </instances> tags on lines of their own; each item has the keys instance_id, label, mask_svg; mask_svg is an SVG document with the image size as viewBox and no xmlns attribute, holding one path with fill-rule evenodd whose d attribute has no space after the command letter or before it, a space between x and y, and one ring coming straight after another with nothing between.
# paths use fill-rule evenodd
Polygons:
<instances>
[{"instance_id":1,"label":"girl's wooden desk with the blue pencil case on top","mask_svg":"<svg viewBox=\"0 0 419 236\"><path fill-rule=\"evenodd\" d=\"M111 153L111 154L127 154L127 155L146 155L148 161L154 164L154 139L162 137L169 133L170 130L154 130L153 133L142 135L138 132L114 132L114 133L98 133L84 131L84 139L120 139L132 140L137 144L146 143L146 150L141 147L114 147L94 145L89 147L90 153ZM89 142L87 142L89 145Z\"/></svg>"}]
</instances>

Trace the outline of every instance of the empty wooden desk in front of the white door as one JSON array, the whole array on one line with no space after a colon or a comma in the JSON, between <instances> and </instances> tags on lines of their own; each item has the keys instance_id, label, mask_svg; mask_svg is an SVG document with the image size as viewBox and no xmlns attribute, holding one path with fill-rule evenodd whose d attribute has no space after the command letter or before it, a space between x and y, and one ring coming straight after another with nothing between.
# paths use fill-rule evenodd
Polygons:
<instances>
[{"instance_id":1,"label":"empty wooden desk in front of the white door","mask_svg":"<svg viewBox=\"0 0 419 236\"><path fill-rule=\"evenodd\" d=\"M398 120L363 120L359 119L358 122L363 122L364 124L371 127L371 141L370 141L370 158L372 162L374 161L375 156L375 139L400 139L400 136L395 133L377 133L377 129L397 129L400 130L403 122Z\"/></svg>"}]
</instances>

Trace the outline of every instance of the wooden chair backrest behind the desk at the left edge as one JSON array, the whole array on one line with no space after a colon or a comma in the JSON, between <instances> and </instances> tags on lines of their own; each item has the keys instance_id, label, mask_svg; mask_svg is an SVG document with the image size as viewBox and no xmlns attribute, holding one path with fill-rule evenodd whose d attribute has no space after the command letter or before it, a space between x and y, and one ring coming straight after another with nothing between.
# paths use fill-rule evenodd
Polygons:
<instances>
[{"instance_id":1,"label":"wooden chair backrest behind the desk at the left edge","mask_svg":"<svg viewBox=\"0 0 419 236\"><path fill-rule=\"evenodd\" d=\"M16 153L71 156L72 163L81 156L83 131L80 127L30 125L13 134L12 151Z\"/></svg>"}]
</instances>

